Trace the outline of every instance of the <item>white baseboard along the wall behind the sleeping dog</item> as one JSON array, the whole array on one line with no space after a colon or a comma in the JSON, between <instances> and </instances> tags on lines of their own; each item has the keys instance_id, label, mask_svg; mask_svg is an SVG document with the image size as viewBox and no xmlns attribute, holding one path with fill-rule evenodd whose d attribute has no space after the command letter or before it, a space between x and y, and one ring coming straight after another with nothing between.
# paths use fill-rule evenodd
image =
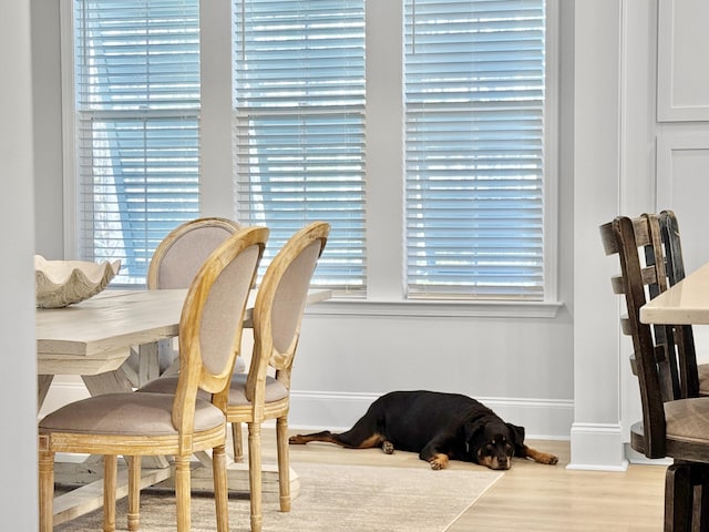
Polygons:
<instances>
[{"instance_id":1,"label":"white baseboard along the wall behind the sleeping dog","mask_svg":"<svg viewBox=\"0 0 709 532\"><path fill-rule=\"evenodd\" d=\"M379 396L297 391L290 393L288 424L298 429L336 432L349 429ZM525 428L527 439L568 440L574 419L571 400L476 398L510 423Z\"/></svg>"}]
</instances>

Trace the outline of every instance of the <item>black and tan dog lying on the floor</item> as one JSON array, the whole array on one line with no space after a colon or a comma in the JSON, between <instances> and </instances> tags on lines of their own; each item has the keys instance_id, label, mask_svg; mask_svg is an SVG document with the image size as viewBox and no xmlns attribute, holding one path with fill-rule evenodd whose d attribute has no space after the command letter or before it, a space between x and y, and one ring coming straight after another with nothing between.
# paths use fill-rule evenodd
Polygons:
<instances>
[{"instance_id":1,"label":"black and tan dog lying on the floor","mask_svg":"<svg viewBox=\"0 0 709 532\"><path fill-rule=\"evenodd\" d=\"M481 402L460 393L392 391L377 399L354 426L342 433L329 430L290 437L291 444L310 441L351 449L381 447L418 452L439 470L449 459L510 469L512 457L555 464L558 459L524 444L524 428L505 423Z\"/></svg>"}]
</instances>

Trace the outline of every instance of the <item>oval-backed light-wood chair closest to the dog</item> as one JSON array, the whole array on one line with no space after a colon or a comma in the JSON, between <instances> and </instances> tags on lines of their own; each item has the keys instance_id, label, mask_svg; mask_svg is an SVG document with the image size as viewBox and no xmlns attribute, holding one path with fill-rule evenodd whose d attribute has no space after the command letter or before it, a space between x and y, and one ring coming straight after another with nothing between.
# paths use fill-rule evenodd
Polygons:
<instances>
[{"instance_id":1,"label":"oval-backed light-wood chair closest to the dog","mask_svg":"<svg viewBox=\"0 0 709 532\"><path fill-rule=\"evenodd\" d=\"M254 306L254 350L248 372L234 374L228 389L214 396L232 423L248 424L248 469L251 531L260 532L261 423L276 420L280 511L290 511L288 411L290 378L300 338L308 288L322 254L330 225L315 222L294 234L279 249L260 282ZM171 393L174 378L148 382L140 391Z\"/></svg>"}]
</instances>

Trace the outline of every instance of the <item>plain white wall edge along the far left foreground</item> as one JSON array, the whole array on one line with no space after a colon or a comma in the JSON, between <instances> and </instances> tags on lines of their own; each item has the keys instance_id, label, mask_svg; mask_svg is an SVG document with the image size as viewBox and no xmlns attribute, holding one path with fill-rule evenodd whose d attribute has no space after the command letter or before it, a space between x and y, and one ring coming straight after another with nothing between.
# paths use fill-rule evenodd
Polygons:
<instances>
[{"instance_id":1,"label":"plain white wall edge along the far left foreground","mask_svg":"<svg viewBox=\"0 0 709 532\"><path fill-rule=\"evenodd\" d=\"M2 6L0 17L0 415L6 481L0 530L37 530L37 364L34 355L34 213L30 2ZM11 493L8 492L11 490Z\"/></svg>"}]
</instances>

